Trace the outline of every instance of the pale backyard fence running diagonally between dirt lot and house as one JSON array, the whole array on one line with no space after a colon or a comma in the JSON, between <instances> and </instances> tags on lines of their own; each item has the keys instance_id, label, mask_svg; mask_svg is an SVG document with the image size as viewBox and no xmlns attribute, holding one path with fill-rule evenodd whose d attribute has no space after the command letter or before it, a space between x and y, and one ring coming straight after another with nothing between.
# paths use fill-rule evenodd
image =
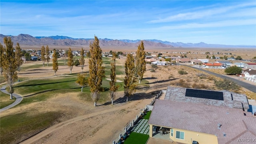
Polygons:
<instances>
[{"instance_id":1,"label":"pale backyard fence running diagonally between dirt lot and house","mask_svg":"<svg viewBox=\"0 0 256 144\"><path fill-rule=\"evenodd\" d=\"M156 97L150 102L150 104L146 105L143 109L140 110L140 114L138 114L134 120L127 122L127 124L124 126L124 130L122 130L122 132L119 134L118 138L116 138L113 141L113 144L121 144L122 143L121 138L125 139L126 136L128 136L128 131L130 131L132 129L132 127L136 124L136 122L138 122L142 113L144 111L152 110L156 99L158 99L160 96L162 96L162 94L163 94L163 91L160 90L159 93L156 95Z\"/></svg>"}]
</instances>

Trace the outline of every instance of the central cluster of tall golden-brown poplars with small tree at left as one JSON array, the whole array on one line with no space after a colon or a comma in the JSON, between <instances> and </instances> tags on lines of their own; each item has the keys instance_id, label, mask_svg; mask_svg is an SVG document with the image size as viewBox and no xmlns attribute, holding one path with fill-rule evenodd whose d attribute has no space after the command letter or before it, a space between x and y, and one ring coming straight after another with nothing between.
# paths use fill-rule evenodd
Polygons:
<instances>
[{"instance_id":1,"label":"central cluster of tall golden-brown poplars with small tree at left","mask_svg":"<svg viewBox=\"0 0 256 144\"><path fill-rule=\"evenodd\" d=\"M83 50L82 50L83 51ZM111 102L113 104L114 96L116 91L118 90L118 86L116 86L116 52L112 52L112 60L111 65L111 73L110 73L110 96ZM145 58L145 50L144 44L141 42L138 46L138 50L136 52L136 58L132 54L128 54L125 62L125 77L124 77L124 96L126 96L126 101L128 101L128 97L131 96L135 92L136 88L136 79L138 77L139 83L143 79L143 75L146 71L146 62ZM94 36L94 42L90 44L90 58L89 58L89 78L88 85L90 86L92 100L94 101L94 106L96 106L96 102L100 99L100 92L104 91L102 88L102 79L105 77L105 70L102 66L102 50L99 45L99 40L97 36ZM86 76L79 74L77 83L80 82L80 85L86 85ZM82 90L81 90L82 91Z\"/></svg>"}]
</instances>

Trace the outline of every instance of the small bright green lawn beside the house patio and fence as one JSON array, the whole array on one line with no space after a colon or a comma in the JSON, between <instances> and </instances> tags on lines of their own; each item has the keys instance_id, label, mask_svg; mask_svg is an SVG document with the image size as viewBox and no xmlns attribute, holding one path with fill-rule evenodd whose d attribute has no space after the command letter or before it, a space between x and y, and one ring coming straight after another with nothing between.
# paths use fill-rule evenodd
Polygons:
<instances>
[{"instance_id":1,"label":"small bright green lawn beside the house patio and fence","mask_svg":"<svg viewBox=\"0 0 256 144\"><path fill-rule=\"evenodd\" d=\"M149 135L131 132L130 135L124 140L124 144L146 144Z\"/></svg>"}]
</instances>

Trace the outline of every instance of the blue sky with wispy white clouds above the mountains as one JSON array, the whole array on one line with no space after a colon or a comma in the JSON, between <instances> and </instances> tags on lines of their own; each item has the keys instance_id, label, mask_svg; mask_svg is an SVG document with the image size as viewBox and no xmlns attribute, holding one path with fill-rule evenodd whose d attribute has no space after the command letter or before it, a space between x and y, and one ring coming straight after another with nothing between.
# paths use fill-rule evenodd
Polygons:
<instances>
[{"instance_id":1,"label":"blue sky with wispy white clouds above the mountains","mask_svg":"<svg viewBox=\"0 0 256 144\"><path fill-rule=\"evenodd\" d=\"M256 0L0 1L0 33L256 45Z\"/></svg>"}]
</instances>

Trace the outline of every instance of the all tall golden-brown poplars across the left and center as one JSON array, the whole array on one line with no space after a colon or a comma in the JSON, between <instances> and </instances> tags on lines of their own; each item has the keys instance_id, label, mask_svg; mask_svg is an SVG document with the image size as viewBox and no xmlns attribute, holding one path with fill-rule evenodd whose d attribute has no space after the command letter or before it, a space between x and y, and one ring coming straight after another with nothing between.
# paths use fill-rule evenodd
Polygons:
<instances>
[{"instance_id":1,"label":"all tall golden-brown poplars across the left and center","mask_svg":"<svg viewBox=\"0 0 256 144\"><path fill-rule=\"evenodd\" d=\"M12 99L13 93L13 83L18 78L16 70L20 70L20 66L22 64L21 59L21 49L20 45L17 43L16 51L14 52L13 42L10 37L4 38L4 44L6 48L3 48L2 44L0 44L0 70L1 74L4 71L4 76L8 83L7 90L10 93L10 98ZM50 50L49 47L42 46L41 48L42 62L43 66L45 62L48 63L50 61ZM116 86L116 58L117 53L112 52L113 62L111 62L111 73L110 73L110 96L113 104L115 92L118 90L118 86ZM54 70L54 75L58 70L58 54L56 54L56 50L53 50L52 55L52 69ZM141 42L138 46L138 50L136 52L136 57L132 56L132 54L128 54L126 62L125 62L125 78L124 78L124 96L127 97L126 101L128 101L128 97L131 96L135 92L136 88L136 79L138 78L139 83L143 79L143 75L146 71L146 62L144 44ZM83 71L84 68L84 50L81 50L81 58L79 59L79 63L81 65L81 69ZM94 36L94 42L90 44L90 58L89 58L89 77L87 79L86 74L78 74L77 83L79 83L82 88L87 84L90 86L91 96L94 100L94 106L96 106L96 102L100 99L100 92L104 91L102 88L102 79L105 77L105 70L102 66L102 50L99 46L99 40L96 36ZM74 60L71 48L68 51L68 66L70 68L70 74L72 73L72 68L74 66ZM81 82L79 82L81 80ZM81 89L82 91L82 89Z\"/></svg>"}]
</instances>

